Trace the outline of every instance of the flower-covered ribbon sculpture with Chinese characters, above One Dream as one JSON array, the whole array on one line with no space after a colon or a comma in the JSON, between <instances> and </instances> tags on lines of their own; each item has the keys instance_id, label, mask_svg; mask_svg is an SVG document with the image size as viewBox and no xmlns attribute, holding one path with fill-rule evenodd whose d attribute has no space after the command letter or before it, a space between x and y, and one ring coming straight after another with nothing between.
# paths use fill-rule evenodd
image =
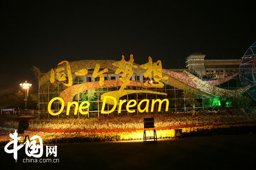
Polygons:
<instances>
[{"instance_id":1,"label":"flower-covered ribbon sculpture with Chinese characters, above One Dream","mask_svg":"<svg viewBox=\"0 0 256 170\"><path fill-rule=\"evenodd\" d=\"M65 69L62 65L65 63L67 69ZM83 84L72 85L70 86L70 74L71 72L75 72L76 74L87 74L88 69L96 68L93 71L93 77L100 77L99 82L85 82ZM105 68L104 70L99 72L99 68ZM108 70L116 71L115 74L122 73L122 77L119 80L105 80L103 77L103 73L106 73ZM57 76L55 75L55 71L57 72ZM149 77L150 79L153 78L156 84L148 82L148 80L143 84L141 82L134 82L131 81L131 75L133 73L143 74L144 77ZM160 60L157 62L152 62L151 57L148 57L148 62L143 65L138 65L134 63L133 55L130 56L130 61L125 61L124 56L122 56L121 61L115 60L80 60L74 62L67 62L63 61L58 64L58 67L52 69L52 71L47 72L43 77L41 77L39 86L45 82L50 80L51 83L55 82L55 79L60 81L64 81L65 75L68 75L68 84L64 84L69 86L65 89L61 94L60 97L63 98L64 104L67 106L67 102L72 101L73 97L85 90L93 89L93 88L107 88L107 87L114 87L120 86L119 91L111 91L106 93L110 96L114 96L118 101L121 96L131 93L154 93L150 91L127 91L124 90L126 85L128 86L137 86L137 87L155 87L160 88L163 86L163 83L167 85L171 85L176 88L180 88L183 90L189 91L196 91L198 94L209 96L235 96L238 94L242 94L247 91L250 86L246 86L244 88L239 88L236 90L226 90L215 87L214 85L219 85L221 83L227 82L228 80L236 77L237 74L234 74L230 77L226 77L224 79L219 80L211 80L211 81L202 81L198 79L194 75L185 71L186 74L179 74L173 71L167 71L162 69L162 64ZM158 93L160 94L160 93ZM166 94L163 94L166 95ZM107 100L106 103L112 104L111 100Z\"/></svg>"}]
</instances>

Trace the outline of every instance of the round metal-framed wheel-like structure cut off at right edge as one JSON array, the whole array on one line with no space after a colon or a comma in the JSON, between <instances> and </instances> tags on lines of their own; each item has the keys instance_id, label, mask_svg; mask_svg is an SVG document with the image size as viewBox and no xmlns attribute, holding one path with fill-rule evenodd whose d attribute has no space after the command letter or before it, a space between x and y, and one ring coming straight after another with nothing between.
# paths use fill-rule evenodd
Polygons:
<instances>
[{"instance_id":1,"label":"round metal-framed wheel-like structure cut off at right edge","mask_svg":"<svg viewBox=\"0 0 256 170\"><path fill-rule=\"evenodd\" d=\"M251 85L247 93L256 100L256 42L247 49L240 64L240 81L243 87Z\"/></svg>"}]
</instances>

